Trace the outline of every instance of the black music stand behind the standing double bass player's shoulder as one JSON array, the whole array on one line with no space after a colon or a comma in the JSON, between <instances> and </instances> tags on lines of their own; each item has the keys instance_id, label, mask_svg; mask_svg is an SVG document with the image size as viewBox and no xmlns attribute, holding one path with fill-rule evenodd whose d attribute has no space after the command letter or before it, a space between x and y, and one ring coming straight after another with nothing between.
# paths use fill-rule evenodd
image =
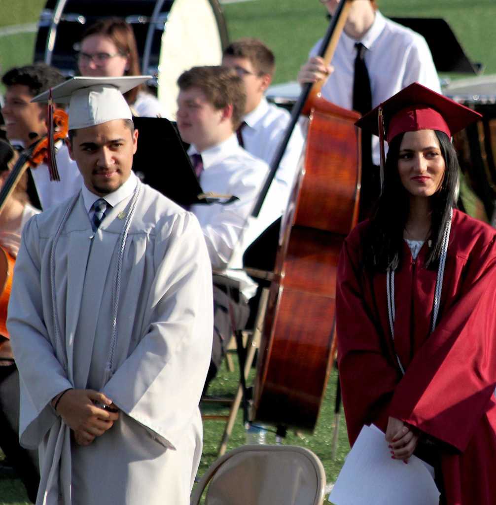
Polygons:
<instances>
[{"instance_id":1,"label":"black music stand behind the standing double bass player's shoulder","mask_svg":"<svg viewBox=\"0 0 496 505\"><path fill-rule=\"evenodd\" d=\"M438 72L479 75L481 63L472 63L460 45L451 26L442 18L391 18L420 33L429 46Z\"/></svg>"}]
</instances>

